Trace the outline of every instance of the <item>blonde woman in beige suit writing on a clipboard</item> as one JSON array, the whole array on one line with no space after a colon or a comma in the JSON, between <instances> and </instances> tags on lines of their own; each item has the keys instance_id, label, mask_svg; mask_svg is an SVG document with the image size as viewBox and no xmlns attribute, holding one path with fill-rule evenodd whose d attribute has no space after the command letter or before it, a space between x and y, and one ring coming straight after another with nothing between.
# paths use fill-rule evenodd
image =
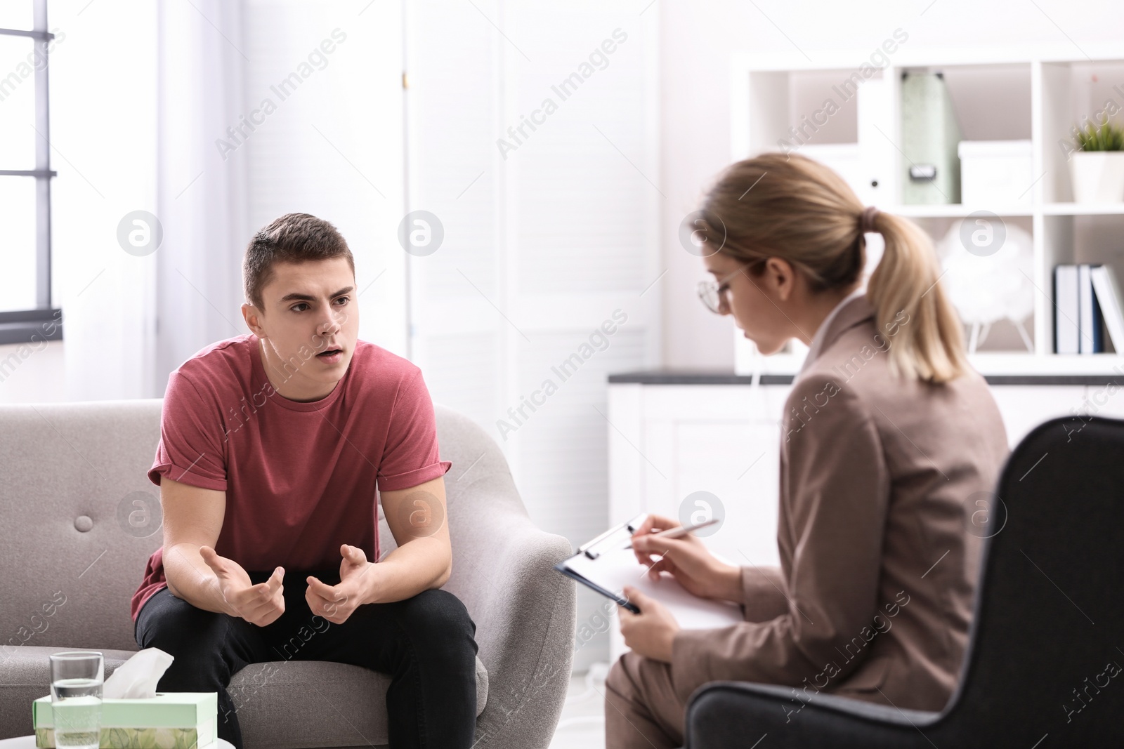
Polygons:
<instances>
[{"instance_id":1,"label":"blonde woman in beige suit writing on a clipboard","mask_svg":"<svg viewBox=\"0 0 1124 749\"><path fill-rule=\"evenodd\" d=\"M928 237L864 208L832 170L765 154L728 167L697 223L706 305L773 354L810 346L781 420L779 568L734 567L676 520L650 517L637 558L745 621L685 630L634 588L631 648L606 681L606 746L683 743L691 693L731 679L941 710L957 686L980 564L970 517L1008 454L999 411L966 360ZM886 249L865 289L863 235ZM979 530L977 533L979 533Z\"/></svg>"}]
</instances>

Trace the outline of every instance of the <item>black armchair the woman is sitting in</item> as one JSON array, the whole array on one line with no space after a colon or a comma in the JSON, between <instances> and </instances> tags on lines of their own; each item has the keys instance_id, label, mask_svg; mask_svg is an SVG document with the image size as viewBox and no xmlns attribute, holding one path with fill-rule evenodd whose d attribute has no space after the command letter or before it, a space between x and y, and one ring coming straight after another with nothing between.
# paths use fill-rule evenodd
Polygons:
<instances>
[{"instance_id":1,"label":"black armchair the woman is sitting in","mask_svg":"<svg viewBox=\"0 0 1124 749\"><path fill-rule=\"evenodd\" d=\"M691 696L687 749L1121 746L1124 421L1041 424L997 493L960 687L943 711L821 694L789 720L791 687L714 682Z\"/></svg>"}]
</instances>

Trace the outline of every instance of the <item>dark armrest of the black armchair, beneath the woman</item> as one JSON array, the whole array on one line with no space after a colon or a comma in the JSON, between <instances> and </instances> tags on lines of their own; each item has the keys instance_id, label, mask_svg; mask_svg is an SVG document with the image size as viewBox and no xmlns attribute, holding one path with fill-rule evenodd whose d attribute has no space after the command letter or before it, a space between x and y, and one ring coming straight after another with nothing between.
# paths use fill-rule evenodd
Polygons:
<instances>
[{"instance_id":1,"label":"dark armrest of the black armchair, beneath the woman","mask_svg":"<svg viewBox=\"0 0 1124 749\"><path fill-rule=\"evenodd\" d=\"M794 694L795 692L795 694ZM928 747L941 713L749 682L711 682L687 706L687 749L744 749L768 734L770 749Z\"/></svg>"}]
</instances>

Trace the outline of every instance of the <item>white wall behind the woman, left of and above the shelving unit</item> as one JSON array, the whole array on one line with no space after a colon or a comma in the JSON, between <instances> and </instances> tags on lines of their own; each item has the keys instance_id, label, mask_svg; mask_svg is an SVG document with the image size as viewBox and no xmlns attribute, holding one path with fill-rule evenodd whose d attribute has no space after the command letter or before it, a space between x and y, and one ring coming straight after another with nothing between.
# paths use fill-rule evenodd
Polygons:
<instances>
[{"instance_id":1,"label":"white wall behind the woman, left of and above the shelving unit","mask_svg":"<svg viewBox=\"0 0 1124 749\"><path fill-rule=\"evenodd\" d=\"M733 369L733 323L695 295L701 261L679 245L678 228L705 186L731 163L729 56L734 52L873 51L895 29L910 49L1116 42L1124 3L1058 0L656 0L661 13L663 359L670 367ZM860 61L856 60L858 65ZM1122 81L1121 83L1124 83Z\"/></svg>"}]
</instances>

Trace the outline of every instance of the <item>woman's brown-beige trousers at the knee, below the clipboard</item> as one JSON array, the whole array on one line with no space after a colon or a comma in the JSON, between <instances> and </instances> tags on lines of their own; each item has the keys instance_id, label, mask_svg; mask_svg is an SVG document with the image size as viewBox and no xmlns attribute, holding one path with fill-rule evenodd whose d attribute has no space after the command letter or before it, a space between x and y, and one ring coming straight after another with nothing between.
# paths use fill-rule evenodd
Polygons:
<instances>
[{"instance_id":1,"label":"woman's brown-beige trousers at the knee, below the clipboard","mask_svg":"<svg viewBox=\"0 0 1124 749\"><path fill-rule=\"evenodd\" d=\"M605 679L605 749L683 746L687 704L671 684L671 665L626 652Z\"/></svg>"}]
</instances>

